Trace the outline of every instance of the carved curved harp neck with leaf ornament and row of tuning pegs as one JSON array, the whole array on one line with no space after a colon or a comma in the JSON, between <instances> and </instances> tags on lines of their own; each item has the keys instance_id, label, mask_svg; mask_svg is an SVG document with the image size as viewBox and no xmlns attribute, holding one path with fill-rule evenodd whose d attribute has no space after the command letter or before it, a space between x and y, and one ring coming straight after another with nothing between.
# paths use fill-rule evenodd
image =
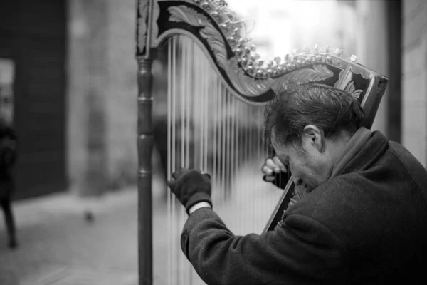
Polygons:
<instances>
[{"instance_id":1,"label":"carved curved harp neck with leaf ornament and row of tuning pegs","mask_svg":"<svg viewBox=\"0 0 427 285\"><path fill-rule=\"evenodd\" d=\"M365 83L376 76L366 68L356 68L357 63L348 58L341 58L342 51L327 47L322 51L315 48L312 53L293 53L284 58L263 60L255 53L255 46L239 34L241 23L233 24L237 19L226 8L225 1L140 0L137 10L137 56L146 55L150 48L161 46L168 37L176 34L194 38L204 46L213 68L221 73L226 86L235 95L253 103L270 100L289 82L310 81L345 88L363 98L367 88L356 88L354 84L359 81L339 74L354 66L353 73L362 76ZM152 11L151 17L149 11ZM148 33L149 18L152 18L151 33Z\"/></svg>"}]
</instances>

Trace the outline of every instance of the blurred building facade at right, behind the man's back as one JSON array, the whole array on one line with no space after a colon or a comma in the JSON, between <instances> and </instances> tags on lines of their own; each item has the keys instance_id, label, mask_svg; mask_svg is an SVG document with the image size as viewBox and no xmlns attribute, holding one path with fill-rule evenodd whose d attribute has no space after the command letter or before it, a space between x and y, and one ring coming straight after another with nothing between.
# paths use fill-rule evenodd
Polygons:
<instances>
[{"instance_id":1,"label":"blurred building facade at right, behind the man's back","mask_svg":"<svg viewBox=\"0 0 427 285\"><path fill-rule=\"evenodd\" d=\"M427 165L427 3L357 0L359 61L389 77L374 122Z\"/></svg>"}]
</instances>

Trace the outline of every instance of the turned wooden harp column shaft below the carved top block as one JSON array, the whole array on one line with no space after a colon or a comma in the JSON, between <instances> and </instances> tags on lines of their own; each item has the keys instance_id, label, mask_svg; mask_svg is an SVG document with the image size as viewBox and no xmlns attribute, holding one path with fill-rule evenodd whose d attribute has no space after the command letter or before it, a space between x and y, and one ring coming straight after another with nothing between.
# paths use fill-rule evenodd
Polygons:
<instances>
[{"instance_id":1,"label":"turned wooden harp column shaft below the carved top block","mask_svg":"<svg viewBox=\"0 0 427 285\"><path fill-rule=\"evenodd\" d=\"M152 59L138 62L138 264L139 285L152 284Z\"/></svg>"}]
</instances>

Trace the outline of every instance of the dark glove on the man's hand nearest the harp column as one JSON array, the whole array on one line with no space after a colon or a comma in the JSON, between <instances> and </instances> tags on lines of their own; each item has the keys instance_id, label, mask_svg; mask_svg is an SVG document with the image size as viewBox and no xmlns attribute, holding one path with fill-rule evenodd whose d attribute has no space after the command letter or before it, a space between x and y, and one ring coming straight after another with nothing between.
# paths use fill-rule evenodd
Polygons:
<instances>
[{"instance_id":1,"label":"dark glove on the man's hand nearest the harp column","mask_svg":"<svg viewBox=\"0 0 427 285\"><path fill-rule=\"evenodd\" d=\"M212 207L210 175L182 168L174 172L172 177L174 180L169 180L167 185L183 204L187 214L190 208L199 202L208 202Z\"/></svg>"}]
</instances>

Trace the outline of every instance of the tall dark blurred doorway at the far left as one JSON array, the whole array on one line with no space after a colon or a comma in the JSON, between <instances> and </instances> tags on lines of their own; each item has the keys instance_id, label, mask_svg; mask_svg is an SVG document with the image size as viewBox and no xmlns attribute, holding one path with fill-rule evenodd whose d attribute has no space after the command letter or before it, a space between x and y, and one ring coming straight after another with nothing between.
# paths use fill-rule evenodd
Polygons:
<instances>
[{"instance_id":1,"label":"tall dark blurred doorway at the far left","mask_svg":"<svg viewBox=\"0 0 427 285\"><path fill-rule=\"evenodd\" d=\"M14 62L15 199L65 190L66 1L4 1L0 58Z\"/></svg>"}]
</instances>

